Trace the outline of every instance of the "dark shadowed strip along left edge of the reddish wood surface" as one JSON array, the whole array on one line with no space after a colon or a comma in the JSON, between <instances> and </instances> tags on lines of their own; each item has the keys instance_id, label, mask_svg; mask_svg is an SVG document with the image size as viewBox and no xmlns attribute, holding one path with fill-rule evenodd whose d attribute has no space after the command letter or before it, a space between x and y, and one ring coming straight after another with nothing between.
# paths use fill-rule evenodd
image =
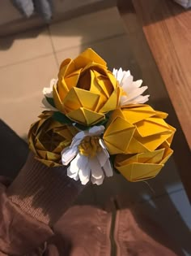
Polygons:
<instances>
[{"instance_id":1,"label":"dark shadowed strip along left edge of the reddish wood surface","mask_svg":"<svg viewBox=\"0 0 191 256\"><path fill-rule=\"evenodd\" d=\"M155 0L153 1L156 2ZM148 1L145 0L144 2ZM142 78L144 84L148 85L148 91L151 94L150 104L159 111L168 112L169 124L176 127L176 135L172 142L172 149L174 150L173 158L176 162L176 166L178 167L182 183L185 186L185 191L188 194L189 200L191 201L191 167L189 145L185 140L185 135L182 132L180 122L177 119L175 109L172 106L167 87L163 83L159 68L155 63L153 54L151 54L150 47L146 42L146 37L142 30L142 24L139 22L134 5L131 1L126 0L118 0L117 5L121 18L125 24L127 36L129 37L130 50L132 50L134 54L134 63L132 63L129 69L132 69L135 63L138 63L139 70L138 68L132 69L134 78ZM128 46L126 50L129 50Z\"/></svg>"}]
</instances>

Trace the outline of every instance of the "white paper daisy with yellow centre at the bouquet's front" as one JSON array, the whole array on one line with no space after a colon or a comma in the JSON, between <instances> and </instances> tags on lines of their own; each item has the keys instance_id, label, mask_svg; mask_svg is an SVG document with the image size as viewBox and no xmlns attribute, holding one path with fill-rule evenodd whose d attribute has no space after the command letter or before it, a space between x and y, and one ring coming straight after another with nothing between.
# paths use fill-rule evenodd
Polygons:
<instances>
[{"instance_id":1,"label":"white paper daisy with yellow centre at the bouquet's front","mask_svg":"<svg viewBox=\"0 0 191 256\"><path fill-rule=\"evenodd\" d=\"M74 180L81 180L87 184L102 184L104 176L112 176L112 166L109 154L100 135L104 133L104 126L94 126L88 131L77 133L70 147L62 151L62 164L67 168L67 176Z\"/></svg>"}]
</instances>

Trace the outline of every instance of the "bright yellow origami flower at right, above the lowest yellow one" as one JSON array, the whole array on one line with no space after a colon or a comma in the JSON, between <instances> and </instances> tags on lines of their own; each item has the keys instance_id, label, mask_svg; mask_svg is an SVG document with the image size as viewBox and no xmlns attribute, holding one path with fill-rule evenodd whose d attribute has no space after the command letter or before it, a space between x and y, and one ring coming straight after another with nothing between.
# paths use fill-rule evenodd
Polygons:
<instances>
[{"instance_id":1,"label":"bright yellow origami flower at right, above the lowest yellow one","mask_svg":"<svg viewBox=\"0 0 191 256\"><path fill-rule=\"evenodd\" d=\"M104 143L109 154L150 152L164 141L171 145L176 129L163 120L167 116L145 104L129 105L113 111L104 132Z\"/></svg>"}]
</instances>

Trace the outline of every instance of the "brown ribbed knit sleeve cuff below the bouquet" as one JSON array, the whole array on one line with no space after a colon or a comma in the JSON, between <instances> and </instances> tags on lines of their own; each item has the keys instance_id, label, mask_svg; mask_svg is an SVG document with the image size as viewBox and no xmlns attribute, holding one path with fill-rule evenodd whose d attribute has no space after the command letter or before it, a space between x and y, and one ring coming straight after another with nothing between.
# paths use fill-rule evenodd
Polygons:
<instances>
[{"instance_id":1,"label":"brown ribbed knit sleeve cuff below the bouquet","mask_svg":"<svg viewBox=\"0 0 191 256\"><path fill-rule=\"evenodd\" d=\"M6 194L24 213L52 226L83 188L66 175L66 167L46 167L30 153Z\"/></svg>"}]
</instances>

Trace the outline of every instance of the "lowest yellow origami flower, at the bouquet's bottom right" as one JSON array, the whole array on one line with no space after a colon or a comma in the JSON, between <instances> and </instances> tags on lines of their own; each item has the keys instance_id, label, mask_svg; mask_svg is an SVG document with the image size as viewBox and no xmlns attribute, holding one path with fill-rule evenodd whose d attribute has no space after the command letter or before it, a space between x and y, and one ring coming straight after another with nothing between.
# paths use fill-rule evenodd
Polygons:
<instances>
[{"instance_id":1,"label":"lowest yellow origami flower, at the bouquet's bottom right","mask_svg":"<svg viewBox=\"0 0 191 256\"><path fill-rule=\"evenodd\" d=\"M126 180L131 182L154 178L164 163L172 155L173 150L167 142L159 146L157 150L139 154L117 154L115 167Z\"/></svg>"}]
</instances>

